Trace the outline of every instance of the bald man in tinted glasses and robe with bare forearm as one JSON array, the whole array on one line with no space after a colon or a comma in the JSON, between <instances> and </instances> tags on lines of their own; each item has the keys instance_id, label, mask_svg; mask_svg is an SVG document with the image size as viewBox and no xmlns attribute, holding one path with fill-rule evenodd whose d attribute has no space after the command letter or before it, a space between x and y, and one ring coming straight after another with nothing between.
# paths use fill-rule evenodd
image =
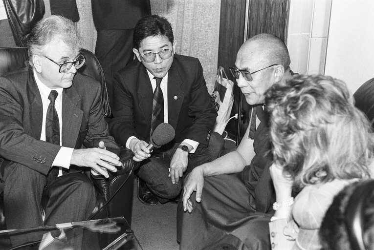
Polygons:
<instances>
[{"instance_id":1,"label":"bald man in tinted glasses and robe with bare forearm","mask_svg":"<svg viewBox=\"0 0 374 250\"><path fill-rule=\"evenodd\" d=\"M271 249L268 223L275 193L263 104L266 90L290 76L289 64L287 47L276 36L259 34L241 46L230 71L253 105L251 124L235 151L194 168L186 177L178 207L181 250Z\"/></svg>"}]
</instances>

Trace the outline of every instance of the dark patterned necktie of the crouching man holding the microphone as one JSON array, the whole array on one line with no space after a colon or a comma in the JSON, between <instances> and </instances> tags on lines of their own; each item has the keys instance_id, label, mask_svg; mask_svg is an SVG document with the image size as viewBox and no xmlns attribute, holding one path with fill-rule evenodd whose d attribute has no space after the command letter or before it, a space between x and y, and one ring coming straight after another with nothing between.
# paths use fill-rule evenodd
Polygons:
<instances>
[{"instance_id":1,"label":"dark patterned necktie of the crouching man holding the microphone","mask_svg":"<svg viewBox=\"0 0 374 250\"><path fill-rule=\"evenodd\" d=\"M151 136L154 129L164 122L164 96L160 87L162 78L154 77L156 79L156 88L153 94L153 107L152 107L152 123L151 123Z\"/></svg>"}]
</instances>

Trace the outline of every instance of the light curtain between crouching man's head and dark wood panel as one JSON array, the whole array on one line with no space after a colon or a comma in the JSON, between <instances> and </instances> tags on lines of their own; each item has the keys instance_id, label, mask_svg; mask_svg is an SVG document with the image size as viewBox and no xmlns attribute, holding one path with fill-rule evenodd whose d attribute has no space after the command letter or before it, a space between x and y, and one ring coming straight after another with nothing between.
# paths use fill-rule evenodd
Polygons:
<instances>
[{"instance_id":1,"label":"light curtain between crouching man's head and dark wood panel","mask_svg":"<svg viewBox=\"0 0 374 250\"><path fill-rule=\"evenodd\" d=\"M151 0L152 14L166 17L173 27L176 53L200 60L209 93L218 63L220 0Z\"/></svg>"}]
</instances>

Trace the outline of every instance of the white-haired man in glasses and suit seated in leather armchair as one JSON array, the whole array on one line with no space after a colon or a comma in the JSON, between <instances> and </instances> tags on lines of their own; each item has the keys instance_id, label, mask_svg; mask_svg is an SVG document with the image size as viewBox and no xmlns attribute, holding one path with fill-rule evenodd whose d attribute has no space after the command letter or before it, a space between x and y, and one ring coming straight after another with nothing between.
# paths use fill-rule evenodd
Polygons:
<instances>
[{"instance_id":1,"label":"white-haired man in glasses and suit seated in leather armchair","mask_svg":"<svg viewBox=\"0 0 374 250\"><path fill-rule=\"evenodd\" d=\"M96 196L83 170L108 177L121 166L103 117L101 85L77 73L85 62L81 41L72 21L48 17L30 34L27 69L0 77L7 229L88 219ZM42 195L48 197L44 211ZM33 236L12 237L12 245L38 240Z\"/></svg>"}]
</instances>

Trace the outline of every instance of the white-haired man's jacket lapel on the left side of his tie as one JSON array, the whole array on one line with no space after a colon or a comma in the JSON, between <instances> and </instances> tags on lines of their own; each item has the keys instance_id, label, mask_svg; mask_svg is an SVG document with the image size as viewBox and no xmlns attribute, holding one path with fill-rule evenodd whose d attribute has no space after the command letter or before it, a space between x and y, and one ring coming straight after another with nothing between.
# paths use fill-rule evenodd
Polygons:
<instances>
[{"instance_id":1,"label":"white-haired man's jacket lapel on the left side of his tie","mask_svg":"<svg viewBox=\"0 0 374 250\"><path fill-rule=\"evenodd\" d=\"M40 139L43 123L43 104L42 97L35 82L33 68L29 67L27 84L26 84L27 100L30 107L30 125L32 137Z\"/></svg>"}]
</instances>

